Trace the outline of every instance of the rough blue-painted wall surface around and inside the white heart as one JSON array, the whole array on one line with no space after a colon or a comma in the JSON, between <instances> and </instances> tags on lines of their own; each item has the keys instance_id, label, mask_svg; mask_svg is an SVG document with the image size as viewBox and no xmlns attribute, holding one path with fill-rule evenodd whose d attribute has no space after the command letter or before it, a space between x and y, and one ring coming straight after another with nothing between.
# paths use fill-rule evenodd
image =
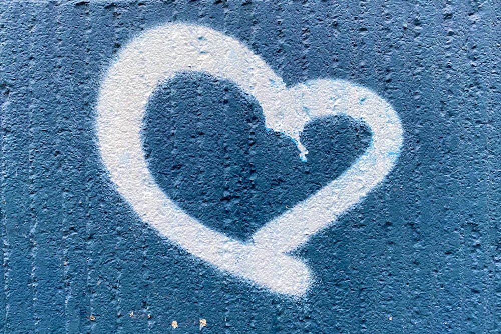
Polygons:
<instances>
[{"instance_id":1,"label":"rough blue-painted wall surface around and inside the white heart","mask_svg":"<svg viewBox=\"0 0 501 334\"><path fill-rule=\"evenodd\" d=\"M301 297L171 242L103 165L103 77L132 39L169 22L235 38L288 87L320 78L367 87L400 117L393 170L294 250L314 277ZM0 34L0 330L501 332L495 0L2 2ZM150 96L141 140L162 191L243 242L342 175L371 131L342 115L313 120L302 162L290 138L265 127L255 98L180 73Z\"/></svg>"}]
</instances>

